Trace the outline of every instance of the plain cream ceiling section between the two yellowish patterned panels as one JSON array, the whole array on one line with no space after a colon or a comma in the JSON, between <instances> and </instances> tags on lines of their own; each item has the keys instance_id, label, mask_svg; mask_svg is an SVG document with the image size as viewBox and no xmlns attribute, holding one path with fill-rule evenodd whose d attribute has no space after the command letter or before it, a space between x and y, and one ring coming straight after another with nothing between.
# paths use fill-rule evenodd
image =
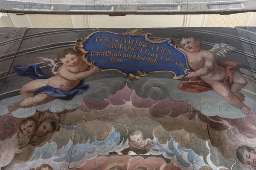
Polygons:
<instances>
[{"instance_id":1,"label":"plain cream ceiling section between the two yellowish patterned panels","mask_svg":"<svg viewBox=\"0 0 256 170\"><path fill-rule=\"evenodd\" d=\"M152 22L153 19L154 22ZM175 16L127 15L119 17L110 17L108 15L71 15L71 21L76 28L201 27L204 23L204 14Z\"/></svg>"}]
</instances>

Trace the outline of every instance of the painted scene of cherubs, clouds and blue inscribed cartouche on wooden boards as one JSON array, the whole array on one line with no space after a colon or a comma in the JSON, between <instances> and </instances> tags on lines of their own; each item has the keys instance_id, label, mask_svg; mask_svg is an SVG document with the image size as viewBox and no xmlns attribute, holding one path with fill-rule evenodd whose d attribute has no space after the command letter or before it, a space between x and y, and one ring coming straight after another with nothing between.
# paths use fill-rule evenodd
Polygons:
<instances>
[{"instance_id":1,"label":"painted scene of cherubs, clouds and blue inscribed cartouche on wooden boards","mask_svg":"<svg viewBox=\"0 0 256 170\"><path fill-rule=\"evenodd\" d=\"M254 170L247 30L26 29L1 78L1 169Z\"/></svg>"}]
</instances>

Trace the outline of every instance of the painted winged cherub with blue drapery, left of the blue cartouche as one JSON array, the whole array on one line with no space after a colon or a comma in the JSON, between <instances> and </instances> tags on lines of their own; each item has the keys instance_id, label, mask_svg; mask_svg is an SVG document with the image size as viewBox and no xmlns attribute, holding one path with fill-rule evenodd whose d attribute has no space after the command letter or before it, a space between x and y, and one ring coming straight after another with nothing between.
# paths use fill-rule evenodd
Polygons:
<instances>
[{"instance_id":1,"label":"painted winged cherub with blue drapery, left of the blue cartouche","mask_svg":"<svg viewBox=\"0 0 256 170\"><path fill-rule=\"evenodd\" d=\"M43 58L43 60L49 62L50 59ZM10 112L17 110L19 107L25 108L46 104L55 100L55 98L71 100L89 88L89 85L84 84L83 80L99 71L97 66L88 70L88 64L72 48L61 51L57 60L62 65L58 67L57 72L53 72L55 75L52 77L44 74L37 64L14 66L18 75L26 75L35 80L20 88L20 94L23 95L24 99L9 104ZM53 65L54 68L57 67L53 60L51 60L50 65Z\"/></svg>"}]
</instances>

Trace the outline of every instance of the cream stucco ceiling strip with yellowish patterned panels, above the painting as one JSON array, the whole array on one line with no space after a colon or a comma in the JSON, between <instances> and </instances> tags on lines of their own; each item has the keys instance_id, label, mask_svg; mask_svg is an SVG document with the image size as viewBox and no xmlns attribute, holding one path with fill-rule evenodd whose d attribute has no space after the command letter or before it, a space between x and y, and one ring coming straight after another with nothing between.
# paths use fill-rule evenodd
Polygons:
<instances>
[{"instance_id":1,"label":"cream stucco ceiling strip with yellowish patterned panels, above the painting","mask_svg":"<svg viewBox=\"0 0 256 170\"><path fill-rule=\"evenodd\" d=\"M236 27L256 26L256 12L230 15L50 15L0 13L1 27L127 28L127 27Z\"/></svg>"}]
</instances>

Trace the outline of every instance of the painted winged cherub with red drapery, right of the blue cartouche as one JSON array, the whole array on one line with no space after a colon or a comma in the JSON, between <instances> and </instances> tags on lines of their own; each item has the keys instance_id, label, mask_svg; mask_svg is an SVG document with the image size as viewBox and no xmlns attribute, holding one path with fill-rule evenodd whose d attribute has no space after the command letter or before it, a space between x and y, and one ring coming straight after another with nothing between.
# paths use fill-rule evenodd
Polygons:
<instances>
[{"instance_id":1,"label":"painted winged cherub with red drapery, right of the blue cartouche","mask_svg":"<svg viewBox=\"0 0 256 170\"><path fill-rule=\"evenodd\" d=\"M180 44L188 58L191 68L178 88L190 92L214 90L234 107L241 109L244 114L252 113L251 109L242 103L244 95L239 91L247 84L241 74L241 64L233 61L220 61L216 57L224 57L224 52L235 50L227 44L216 44L212 50L201 49L201 42L194 36L180 37Z\"/></svg>"}]
</instances>

